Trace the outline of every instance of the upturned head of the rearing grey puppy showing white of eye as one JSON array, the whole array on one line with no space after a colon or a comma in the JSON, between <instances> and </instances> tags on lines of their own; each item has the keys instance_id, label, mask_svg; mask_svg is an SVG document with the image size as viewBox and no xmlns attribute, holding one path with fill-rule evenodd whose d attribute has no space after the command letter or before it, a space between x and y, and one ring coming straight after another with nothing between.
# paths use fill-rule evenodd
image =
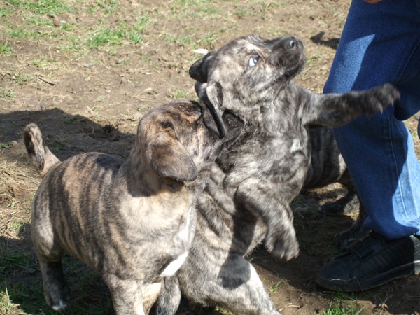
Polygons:
<instances>
[{"instance_id":1,"label":"upturned head of the rearing grey puppy showing white of eye","mask_svg":"<svg viewBox=\"0 0 420 315\"><path fill-rule=\"evenodd\" d=\"M209 52L189 72L197 81L200 99L207 95L217 111L223 111L225 104L225 109L248 120L255 117L255 110L265 100L265 92L270 94L267 99L273 99L273 92L280 92L302 71L304 63L300 39L282 36L269 40L249 35Z\"/></svg>"}]
</instances>

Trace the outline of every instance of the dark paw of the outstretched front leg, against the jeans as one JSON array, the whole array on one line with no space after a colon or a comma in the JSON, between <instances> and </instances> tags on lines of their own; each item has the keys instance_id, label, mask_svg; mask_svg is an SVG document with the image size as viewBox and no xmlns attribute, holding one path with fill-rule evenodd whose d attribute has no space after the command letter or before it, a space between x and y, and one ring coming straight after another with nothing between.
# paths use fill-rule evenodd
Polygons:
<instances>
[{"instance_id":1,"label":"dark paw of the outstretched front leg, against the jeans","mask_svg":"<svg viewBox=\"0 0 420 315\"><path fill-rule=\"evenodd\" d=\"M365 93L367 97L366 104L368 105L367 114L370 114L370 111L372 111L371 113L382 112L386 107L400 99L400 92L390 83L372 87Z\"/></svg>"}]
</instances>

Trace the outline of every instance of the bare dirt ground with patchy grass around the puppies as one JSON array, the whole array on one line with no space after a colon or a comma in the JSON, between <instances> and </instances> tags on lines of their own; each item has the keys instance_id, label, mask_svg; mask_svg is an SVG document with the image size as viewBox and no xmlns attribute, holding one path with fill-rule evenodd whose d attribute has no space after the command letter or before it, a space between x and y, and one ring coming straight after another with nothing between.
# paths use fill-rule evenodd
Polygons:
<instances>
[{"instance_id":1,"label":"bare dirt ground with patchy grass around the puppies","mask_svg":"<svg viewBox=\"0 0 420 315\"><path fill-rule=\"evenodd\" d=\"M196 98L188 77L201 57L196 50L251 33L300 37L307 66L296 82L321 92L348 6L346 0L1 1L0 314L54 314L43 302L29 239L30 202L40 179L24 152L25 125L38 124L61 159L87 151L125 157L146 111ZM407 121L419 152L416 123ZM285 262L263 250L251 258L276 307L285 315L419 314L419 276L357 294L316 286L317 269L338 253L333 236L354 215L315 209L343 193L337 184L293 202L299 258ZM104 283L66 261L73 295L63 313L113 314Z\"/></svg>"}]
</instances>

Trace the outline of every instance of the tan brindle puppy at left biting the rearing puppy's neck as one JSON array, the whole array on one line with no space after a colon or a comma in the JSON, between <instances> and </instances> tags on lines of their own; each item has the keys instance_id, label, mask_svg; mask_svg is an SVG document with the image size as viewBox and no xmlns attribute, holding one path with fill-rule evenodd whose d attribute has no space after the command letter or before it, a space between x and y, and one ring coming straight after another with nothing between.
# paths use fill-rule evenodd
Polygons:
<instances>
[{"instance_id":1,"label":"tan brindle puppy at left biting the rearing puppy's neck","mask_svg":"<svg viewBox=\"0 0 420 315\"><path fill-rule=\"evenodd\" d=\"M154 302L161 279L188 255L194 204L211 163L241 132L235 116L215 119L196 102L153 109L141 118L127 160L85 153L60 162L38 127L27 125L25 145L43 176L31 237L53 309L69 301L61 263L67 252L102 274L117 314L145 314L143 304Z\"/></svg>"}]
</instances>

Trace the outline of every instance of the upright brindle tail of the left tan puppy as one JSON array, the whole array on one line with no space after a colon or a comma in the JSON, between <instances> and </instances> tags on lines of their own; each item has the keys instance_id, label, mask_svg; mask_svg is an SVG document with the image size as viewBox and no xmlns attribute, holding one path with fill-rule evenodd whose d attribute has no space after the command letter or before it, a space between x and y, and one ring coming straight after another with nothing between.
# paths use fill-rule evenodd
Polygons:
<instances>
[{"instance_id":1,"label":"upright brindle tail of the left tan puppy","mask_svg":"<svg viewBox=\"0 0 420 315\"><path fill-rule=\"evenodd\" d=\"M23 131L23 141L36 170L45 176L48 170L59 163L59 159L43 145L41 130L35 124L29 124Z\"/></svg>"}]
</instances>

